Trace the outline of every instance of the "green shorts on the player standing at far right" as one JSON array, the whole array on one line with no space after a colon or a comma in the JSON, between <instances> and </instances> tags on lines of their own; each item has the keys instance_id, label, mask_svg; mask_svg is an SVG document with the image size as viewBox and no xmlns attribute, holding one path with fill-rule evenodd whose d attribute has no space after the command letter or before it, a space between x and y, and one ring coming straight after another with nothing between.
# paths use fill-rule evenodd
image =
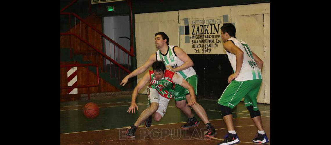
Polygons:
<instances>
[{"instance_id":1,"label":"green shorts on the player standing at far right","mask_svg":"<svg viewBox=\"0 0 331 145\"><path fill-rule=\"evenodd\" d=\"M226 87L217 103L223 106L233 108L242 98L244 98L245 106L253 106L253 110L257 111L257 96L261 87L262 79L249 81L232 81Z\"/></svg>"}]
</instances>

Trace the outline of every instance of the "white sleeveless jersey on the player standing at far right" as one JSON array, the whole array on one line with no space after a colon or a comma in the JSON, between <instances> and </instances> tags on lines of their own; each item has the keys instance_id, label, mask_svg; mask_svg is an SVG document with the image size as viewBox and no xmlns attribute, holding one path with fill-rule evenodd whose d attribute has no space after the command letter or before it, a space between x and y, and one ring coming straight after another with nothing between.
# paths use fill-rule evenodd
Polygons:
<instances>
[{"instance_id":1,"label":"white sleeveless jersey on the player standing at far right","mask_svg":"<svg viewBox=\"0 0 331 145\"><path fill-rule=\"evenodd\" d=\"M255 60L253 59L253 55L251 50L246 42L242 40L238 40L234 37L229 38L227 41L231 40L234 45L239 47L244 52L244 60L243 65L241 67L239 76L235 79L235 81L248 81L248 80L255 80L255 79L262 79L261 69L256 64ZM233 71L236 72L236 55L231 54L226 51L228 54L229 61L233 68Z\"/></svg>"}]
</instances>

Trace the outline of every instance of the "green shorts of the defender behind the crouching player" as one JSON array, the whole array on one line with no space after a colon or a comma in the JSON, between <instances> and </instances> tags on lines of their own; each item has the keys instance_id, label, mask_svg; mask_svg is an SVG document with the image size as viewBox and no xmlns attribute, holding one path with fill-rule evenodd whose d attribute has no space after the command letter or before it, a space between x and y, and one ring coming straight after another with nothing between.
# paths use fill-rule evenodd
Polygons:
<instances>
[{"instance_id":1,"label":"green shorts of the defender behind the crouching player","mask_svg":"<svg viewBox=\"0 0 331 145\"><path fill-rule=\"evenodd\" d=\"M194 91L195 91L195 95L197 96L197 84L198 84L198 76L195 74L193 76L190 76L188 78L185 79L189 84L192 85ZM190 94L188 89L185 89L184 87L175 84L175 94L174 94L174 98L175 101L181 101L181 100L186 100L186 95Z\"/></svg>"}]
</instances>

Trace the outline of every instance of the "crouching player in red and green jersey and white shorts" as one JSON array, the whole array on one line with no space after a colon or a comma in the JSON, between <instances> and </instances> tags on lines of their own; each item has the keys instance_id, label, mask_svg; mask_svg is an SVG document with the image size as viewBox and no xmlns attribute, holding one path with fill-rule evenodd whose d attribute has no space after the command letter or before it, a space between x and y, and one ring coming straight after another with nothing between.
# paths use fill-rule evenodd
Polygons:
<instances>
[{"instance_id":1,"label":"crouching player in red and green jersey and white shorts","mask_svg":"<svg viewBox=\"0 0 331 145\"><path fill-rule=\"evenodd\" d=\"M177 83L189 90L189 93L194 96L193 87L186 82L182 77L178 76L174 71L166 69L166 65L161 61L156 61L152 64L153 70L147 72L144 77L139 81L132 93L132 100L128 113L135 113L135 108L138 110L136 98L138 91L142 89L148 82L148 107L145 109L137 119L137 121L126 130L126 137L135 137L134 133L137 127L142 124L148 117L154 117L155 121L160 121L166 113L169 100L174 95L173 86ZM195 105L195 98L188 105Z\"/></svg>"}]
</instances>

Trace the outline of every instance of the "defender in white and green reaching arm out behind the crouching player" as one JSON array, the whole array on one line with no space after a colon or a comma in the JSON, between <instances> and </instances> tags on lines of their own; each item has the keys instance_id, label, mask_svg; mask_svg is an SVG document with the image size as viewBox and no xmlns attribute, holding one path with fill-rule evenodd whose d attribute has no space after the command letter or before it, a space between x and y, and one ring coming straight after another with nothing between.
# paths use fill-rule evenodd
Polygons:
<instances>
[{"instance_id":1,"label":"defender in white and green reaching arm out behind the crouching player","mask_svg":"<svg viewBox=\"0 0 331 145\"><path fill-rule=\"evenodd\" d=\"M189 84L193 86L195 91L194 97L188 93L188 90L185 90L183 87L176 84L174 90L174 98L176 100L176 107L179 108L188 117L187 123L181 128L189 129L192 127L197 127L200 122L194 117L191 108L188 107L186 104L186 101L190 102L191 100L193 100L193 98L195 99L197 95L198 79L196 72L192 67L192 59L178 46L169 45L169 37L164 32L158 32L155 34L155 45L159 50L155 54L152 54L142 66L138 67L136 70L124 77L120 85L123 84L124 86L129 78L146 71L147 68L150 67L153 62L163 61L168 69L172 69L173 71L175 71L177 75L181 76L184 80L186 80ZM211 125L205 109L199 103L196 103L191 107L197 113L199 118L201 118L202 121L205 123L205 126L208 130L205 136L215 136L217 134L216 130ZM145 126L149 127L151 123L152 117L149 117L145 122Z\"/></svg>"}]
</instances>

